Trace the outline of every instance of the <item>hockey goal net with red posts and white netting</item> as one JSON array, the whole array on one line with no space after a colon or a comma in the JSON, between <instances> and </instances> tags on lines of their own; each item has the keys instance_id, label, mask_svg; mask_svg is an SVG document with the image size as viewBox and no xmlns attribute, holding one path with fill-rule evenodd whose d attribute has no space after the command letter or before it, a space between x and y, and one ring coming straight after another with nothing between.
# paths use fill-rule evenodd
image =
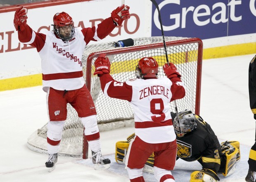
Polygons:
<instances>
[{"instance_id":1,"label":"hockey goal net with red posts and white netting","mask_svg":"<svg viewBox=\"0 0 256 182\"><path fill-rule=\"evenodd\" d=\"M159 77L164 77L162 66L166 63L162 37L135 38L130 47L117 47L116 42L88 45L83 53L83 73L85 84L90 90L97 110L100 131L133 126L133 109L128 101L106 97L100 87L100 80L94 73L94 61L101 53L106 53L111 61L111 75L125 82L135 78L135 67L142 57L153 57L159 64ZM199 114L201 64L203 45L199 38L165 37L168 60L177 67L186 87L186 95L176 101L178 111L185 109ZM76 111L67 104L67 119L64 125L59 154L73 157L88 157L88 143L83 135L83 125ZM170 110L175 112L173 103ZM47 123L28 138L28 148L47 153Z\"/></svg>"}]
</instances>

